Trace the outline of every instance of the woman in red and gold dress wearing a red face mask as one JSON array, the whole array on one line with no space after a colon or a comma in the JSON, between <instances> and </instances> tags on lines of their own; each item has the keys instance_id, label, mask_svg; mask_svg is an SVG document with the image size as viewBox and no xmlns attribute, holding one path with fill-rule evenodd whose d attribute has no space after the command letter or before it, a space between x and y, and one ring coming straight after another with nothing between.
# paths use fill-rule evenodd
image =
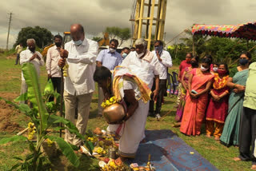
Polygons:
<instances>
[{"instance_id":1,"label":"woman in red and gold dress wearing a red face mask","mask_svg":"<svg viewBox=\"0 0 256 171\"><path fill-rule=\"evenodd\" d=\"M229 78L228 66L224 63L218 66L214 74L213 89L210 90L210 102L206 111L206 137L214 134L214 139L219 140L228 110L229 87L226 85Z\"/></svg>"}]
</instances>

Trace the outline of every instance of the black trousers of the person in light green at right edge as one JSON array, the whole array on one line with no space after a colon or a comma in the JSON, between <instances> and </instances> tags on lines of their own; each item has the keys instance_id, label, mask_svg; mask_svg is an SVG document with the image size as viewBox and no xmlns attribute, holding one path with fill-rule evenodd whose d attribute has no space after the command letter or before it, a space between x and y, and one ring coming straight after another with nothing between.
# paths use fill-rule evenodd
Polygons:
<instances>
[{"instance_id":1,"label":"black trousers of the person in light green at right edge","mask_svg":"<svg viewBox=\"0 0 256 171\"><path fill-rule=\"evenodd\" d=\"M256 138L256 109L243 108L239 130L239 158L256 165L254 146Z\"/></svg>"}]
</instances>

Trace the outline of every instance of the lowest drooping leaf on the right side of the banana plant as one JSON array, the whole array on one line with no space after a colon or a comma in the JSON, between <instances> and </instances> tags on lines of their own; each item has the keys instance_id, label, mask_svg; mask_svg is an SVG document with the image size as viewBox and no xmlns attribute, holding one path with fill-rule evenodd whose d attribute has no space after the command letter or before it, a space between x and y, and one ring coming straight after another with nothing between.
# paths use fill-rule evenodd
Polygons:
<instances>
[{"instance_id":1,"label":"lowest drooping leaf on the right side of the banana plant","mask_svg":"<svg viewBox=\"0 0 256 171\"><path fill-rule=\"evenodd\" d=\"M62 153L75 167L78 167L80 165L79 158L74 153L71 145L64 141L62 137L46 136L46 138L49 138L51 141L56 141L59 149L62 150Z\"/></svg>"}]
</instances>

